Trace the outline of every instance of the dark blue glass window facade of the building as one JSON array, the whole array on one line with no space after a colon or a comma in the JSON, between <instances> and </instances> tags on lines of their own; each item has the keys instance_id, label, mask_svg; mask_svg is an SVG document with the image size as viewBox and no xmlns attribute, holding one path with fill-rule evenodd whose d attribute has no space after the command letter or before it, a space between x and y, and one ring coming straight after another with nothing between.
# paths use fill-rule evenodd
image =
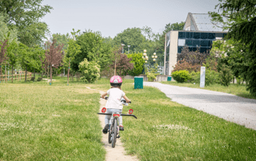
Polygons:
<instances>
[{"instance_id":1,"label":"dark blue glass window facade of the building","mask_svg":"<svg viewBox=\"0 0 256 161\"><path fill-rule=\"evenodd\" d=\"M199 32L179 32L178 42L185 39L185 45L178 43L178 53L181 53L184 46L188 46L191 51L196 51L200 48L200 53L205 53L211 50L212 42L216 37L224 37L226 33L199 33Z\"/></svg>"}]
</instances>

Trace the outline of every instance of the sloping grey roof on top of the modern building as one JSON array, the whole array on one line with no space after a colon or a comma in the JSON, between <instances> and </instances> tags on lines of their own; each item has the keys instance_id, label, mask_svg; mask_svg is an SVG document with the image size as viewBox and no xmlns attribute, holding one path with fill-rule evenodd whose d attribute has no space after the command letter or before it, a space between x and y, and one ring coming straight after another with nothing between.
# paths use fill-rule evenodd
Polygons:
<instances>
[{"instance_id":1,"label":"sloping grey roof on top of the modern building","mask_svg":"<svg viewBox=\"0 0 256 161\"><path fill-rule=\"evenodd\" d=\"M184 25L183 30L186 30L186 27L189 30L197 31L219 31L227 32L228 30L223 30L223 24L217 23L217 25L211 22L211 16L208 13L188 13L186 19L186 24Z\"/></svg>"}]
</instances>

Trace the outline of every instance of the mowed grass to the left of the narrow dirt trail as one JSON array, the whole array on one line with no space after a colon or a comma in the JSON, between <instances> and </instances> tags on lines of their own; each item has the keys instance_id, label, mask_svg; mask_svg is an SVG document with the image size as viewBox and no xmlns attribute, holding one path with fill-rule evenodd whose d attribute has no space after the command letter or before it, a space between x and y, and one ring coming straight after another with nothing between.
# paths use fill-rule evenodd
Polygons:
<instances>
[{"instance_id":1,"label":"mowed grass to the left of the narrow dirt trail","mask_svg":"<svg viewBox=\"0 0 256 161\"><path fill-rule=\"evenodd\" d=\"M0 84L0 160L105 160L99 92L63 80Z\"/></svg>"}]
</instances>

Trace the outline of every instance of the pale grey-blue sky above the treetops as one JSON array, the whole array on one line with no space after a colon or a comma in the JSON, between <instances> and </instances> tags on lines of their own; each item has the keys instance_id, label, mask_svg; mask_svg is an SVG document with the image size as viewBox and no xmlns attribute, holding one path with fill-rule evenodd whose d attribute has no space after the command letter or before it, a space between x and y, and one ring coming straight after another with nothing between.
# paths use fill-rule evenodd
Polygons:
<instances>
[{"instance_id":1,"label":"pale grey-blue sky above the treetops","mask_svg":"<svg viewBox=\"0 0 256 161\"><path fill-rule=\"evenodd\" d=\"M100 31L114 38L132 27L151 27L162 33L165 24L185 22L188 13L208 13L218 0L44 0L53 10L41 19L50 33Z\"/></svg>"}]
</instances>

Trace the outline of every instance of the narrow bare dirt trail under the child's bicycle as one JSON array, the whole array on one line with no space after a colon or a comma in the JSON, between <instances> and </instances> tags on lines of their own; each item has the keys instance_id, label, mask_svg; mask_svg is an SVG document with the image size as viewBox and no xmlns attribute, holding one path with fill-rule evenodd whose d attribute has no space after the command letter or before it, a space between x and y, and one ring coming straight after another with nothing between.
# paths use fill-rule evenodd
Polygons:
<instances>
[{"instance_id":1,"label":"narrow bare dirt trail under the child's bicycle","mask_svg":"<svg viewBox=\"0 0 256 161\"><path fill-rule=\"evenodd\" d=\"M88 88L91 89L91 88ZM94 89L91 89L94 90ZM100 94L105 93L103 91L99 91ZM102 108L105 107L106 104L105 99L100 99L100 107L99 112L101 112ZM99 121L101 122L102 129L105 126L105 115L99 115ZM122 137L122 133L120 134ZM112 148L111 144L108 143L108 134L102 134L102 143L104 144L105 150L107 151L105 160L122 160L122 161L137 161L137 157L125 155L125 148L122 146L122 142L120 139L116 139L116 147Z\"/></svg>"}]
</instances>

